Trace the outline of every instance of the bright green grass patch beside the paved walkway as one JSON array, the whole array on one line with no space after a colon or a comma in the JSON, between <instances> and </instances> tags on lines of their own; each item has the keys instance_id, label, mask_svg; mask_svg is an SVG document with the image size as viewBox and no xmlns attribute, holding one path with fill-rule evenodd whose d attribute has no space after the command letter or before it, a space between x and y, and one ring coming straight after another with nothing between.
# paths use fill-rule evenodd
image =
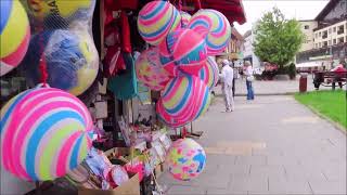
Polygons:
<instances>
[{"instance_id":1,"label":"bright green grass patch beside the paved walkway","mask_svg":"<svg viewBox=\"0 0 347 195\"><path fill-rule=\"evenodd\" d=\"M308 93L296 93L295 99L304 105L307 105L320 114L338 122L347 129L346 91L313 91Z\"/></svg>"}]
</instances>

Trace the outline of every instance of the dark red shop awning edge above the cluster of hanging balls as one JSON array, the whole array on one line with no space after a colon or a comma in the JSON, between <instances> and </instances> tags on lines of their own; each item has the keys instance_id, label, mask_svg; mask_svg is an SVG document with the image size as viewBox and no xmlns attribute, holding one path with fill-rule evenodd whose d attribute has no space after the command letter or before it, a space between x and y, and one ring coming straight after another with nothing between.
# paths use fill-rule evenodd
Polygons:
<instances>
[{"instance_id":1,"label":"dark red shop awning edge above the cluster of hanging balls","mask_svg":"<svg viewBox=\"0 0 347 195\"><path fill-rule=\"evenodd\" d=\"M198 0L182 0L183 10L194 12L198 8ZM246 15L242 0L200 0L203 9L215 9L226 15L229 22L246 23ZM185 5L184 5L185 4Z\"/></svg>"}]
</instances>

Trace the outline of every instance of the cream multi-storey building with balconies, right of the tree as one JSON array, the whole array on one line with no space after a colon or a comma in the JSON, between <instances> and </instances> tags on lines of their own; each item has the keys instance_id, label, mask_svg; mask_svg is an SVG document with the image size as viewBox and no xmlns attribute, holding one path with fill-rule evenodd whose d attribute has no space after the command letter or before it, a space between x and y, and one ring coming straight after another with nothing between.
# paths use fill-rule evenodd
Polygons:
<instances>
[{"instance_id":1,"label":"cream multi-storey building with balconies, right of the tree","mask_svg":"<svg viewBox=\"0 0 347 195\"><path fill-rule=\"evenodd\" d=\"M331 0L312 21L300 21L307 39L297 67L330 69L347 61L347 0Z\"/></svg>"}]
</instances>

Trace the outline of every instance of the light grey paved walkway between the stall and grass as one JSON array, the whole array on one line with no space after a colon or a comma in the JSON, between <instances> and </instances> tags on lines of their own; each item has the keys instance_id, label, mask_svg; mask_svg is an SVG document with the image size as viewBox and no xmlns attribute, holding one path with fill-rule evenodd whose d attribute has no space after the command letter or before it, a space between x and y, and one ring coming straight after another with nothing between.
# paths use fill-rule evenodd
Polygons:
<instances>
[{"instance_id":1,"label":"light grey paved walkway between the stall and grass","mask_svg":"<svg viewBox=\"0 0 347 195\"><path fill-rule=\"evenodd\" d=\"M194 122L205 171L189 182L164 173L168 194L346 194L346 134L292 96L244 99L233 113L217 99Z\"/></svg>"}]
</instances>

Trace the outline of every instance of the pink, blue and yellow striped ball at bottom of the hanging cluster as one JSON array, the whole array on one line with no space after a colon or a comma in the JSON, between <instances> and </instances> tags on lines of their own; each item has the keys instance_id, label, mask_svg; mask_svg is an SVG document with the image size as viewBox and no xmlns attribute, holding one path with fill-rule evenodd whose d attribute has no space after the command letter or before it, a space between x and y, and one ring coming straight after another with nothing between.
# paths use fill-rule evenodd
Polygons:
<instances>
[{"instance_id":1,"label":"pink, blue and yellow striped ball at bottom of the hanging cluster","mask_svg":"<svg viewBox=\"0 0 347 195\"><path fill-rule=\"evenodd\" d=\"M210 103L208 87L198 77L175 77L162 93L156 110L169 127L182 127L205 113Z\"/></svg>"}]
</instances>

